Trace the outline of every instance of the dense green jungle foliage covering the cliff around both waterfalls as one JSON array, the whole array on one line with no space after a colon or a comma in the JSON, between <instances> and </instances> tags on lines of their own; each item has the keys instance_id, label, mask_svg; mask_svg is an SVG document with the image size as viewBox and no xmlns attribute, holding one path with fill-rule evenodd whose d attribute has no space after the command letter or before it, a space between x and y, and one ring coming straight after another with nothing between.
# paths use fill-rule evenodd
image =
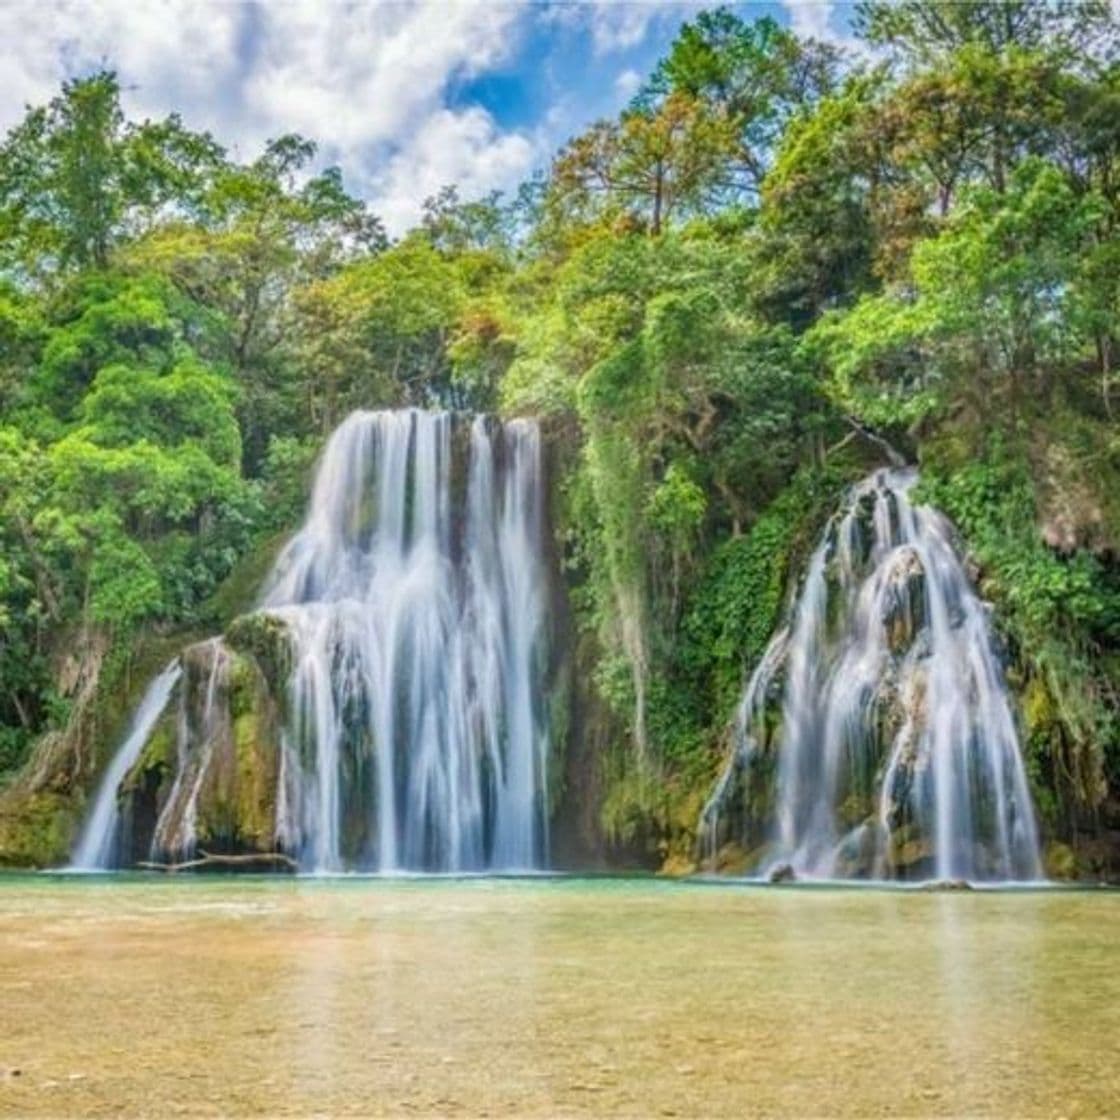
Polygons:
<instances>
[{"instance_id":1,"label":"dense green jungle foliage covering the cliff around both waterfalls","mask_svg":"<svg viewBox=\"0 0 1120 1120\"><path fill-rule=\"evenodd\" d=\"M237 162L125 119L108 72L29 109L0 146L0 784L64 741L87 785L74 728L136 651L228 622L325 435L414 403L545 426L596 744L568 782L616 850L687 855L744 673L890 448L995 606L1049 834L1099 837L1120 28L903 0L856 29L700 13L515 198L449 186L395 242L301 137Z\"/></svg>"}]
</instances>

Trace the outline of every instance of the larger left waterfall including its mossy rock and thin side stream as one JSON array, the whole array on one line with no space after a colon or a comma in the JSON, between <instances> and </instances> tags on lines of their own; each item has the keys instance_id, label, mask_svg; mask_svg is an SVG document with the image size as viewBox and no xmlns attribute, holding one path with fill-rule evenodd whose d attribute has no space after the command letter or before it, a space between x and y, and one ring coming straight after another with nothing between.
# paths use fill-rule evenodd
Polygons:
<instances>
[{"instance_id":1,"label":"larger left waterfall including its mossy rock and thin side stream","mask_svg":"<svg viewBox=\"0 0 1120 1120\"><path fill-rule=\"evenodd\" d=\"M114 866L131 799L131 850L156 860L216 842L318 871L545 866L544 533L531 421L351 416L258 612L152 683L75 865ZM240 632L282 653L262 665Z\"/></svg>"}]
</instances>

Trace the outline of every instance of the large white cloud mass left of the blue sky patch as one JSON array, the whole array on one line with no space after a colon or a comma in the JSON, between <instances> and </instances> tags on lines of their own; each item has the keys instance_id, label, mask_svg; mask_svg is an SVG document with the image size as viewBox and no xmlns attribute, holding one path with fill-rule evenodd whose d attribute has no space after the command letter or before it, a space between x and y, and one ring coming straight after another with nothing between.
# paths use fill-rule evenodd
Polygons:
<instances>
[{"instance_id":1,"label":"large white cloud mass left of the blue sky patch","mask_svg":"<svg viewBox=\"0 0 1120 1120\"><path fill-rule=\"evenodd\" d=\"M108 65L130 113L181 111L243 157L283 132L317 140L399 233L444 183L469 195L531 170L535 140L478 106L447 108L454 82L510 56L528 11L485 0L0 0L0 128L65 77Z\"/></svg>"}]
</instances>

